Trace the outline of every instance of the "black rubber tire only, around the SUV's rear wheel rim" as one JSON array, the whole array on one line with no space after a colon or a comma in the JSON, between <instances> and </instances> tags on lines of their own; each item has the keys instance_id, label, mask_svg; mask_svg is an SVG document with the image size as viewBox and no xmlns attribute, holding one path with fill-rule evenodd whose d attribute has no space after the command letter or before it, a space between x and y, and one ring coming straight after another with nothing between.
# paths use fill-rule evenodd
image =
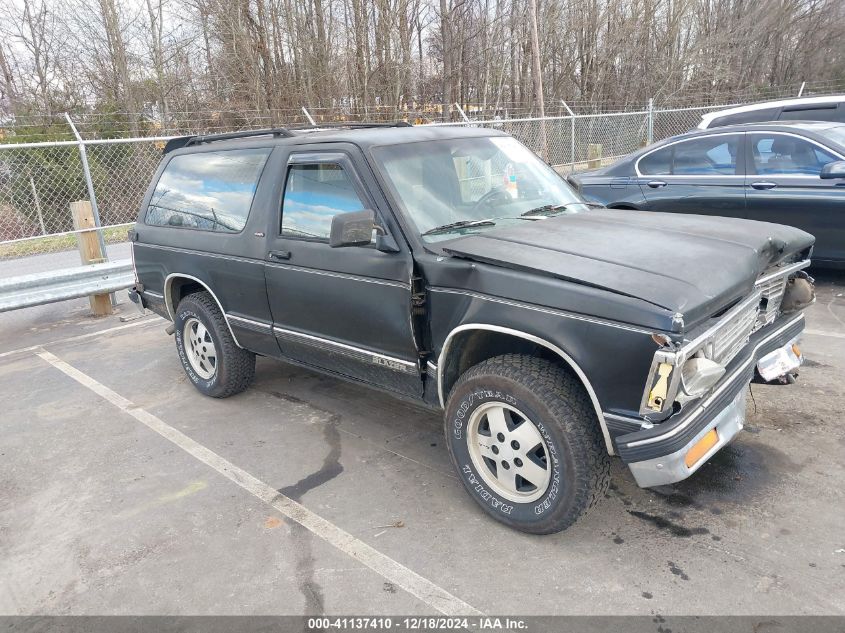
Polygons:
<instances>
[{"instance_id":1,"label":"black rubber tire only, around the SUV's rear wheel rim","mask_svg":"<svg viewBox=\"0 0 845 633\"><path fill-rule=\"evenodd\" d=\"M210 334L217 352L217 364L210 378L200 376L188 361L185 323L200 321ZM174 319L176 351L190 381L200 392L212 398L228 398L244 391L255 377L255 354L237 346L217 302L208 292L196 292L176 306Z\"/></svg>"}]
</instances>

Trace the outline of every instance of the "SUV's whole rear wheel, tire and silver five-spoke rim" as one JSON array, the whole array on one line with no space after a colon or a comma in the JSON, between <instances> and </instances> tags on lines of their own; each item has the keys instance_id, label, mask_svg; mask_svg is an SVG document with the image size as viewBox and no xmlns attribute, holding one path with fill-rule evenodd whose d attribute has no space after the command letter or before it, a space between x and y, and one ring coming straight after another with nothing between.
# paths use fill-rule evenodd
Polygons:
<instances>
[{"instance_id":1,"label":"SUV's whole rear wheel, tire and silver five-spoke rim","mask_svg":"<svg viewBox=\"0 0 845 633\"><path fill-rule=\"evenodd\" d=\"M255 376L255 354L237 346L217 302L190 294L176 307L176 350L194 386L213 398L246 389Z\"/></svg>"}]
</instances>

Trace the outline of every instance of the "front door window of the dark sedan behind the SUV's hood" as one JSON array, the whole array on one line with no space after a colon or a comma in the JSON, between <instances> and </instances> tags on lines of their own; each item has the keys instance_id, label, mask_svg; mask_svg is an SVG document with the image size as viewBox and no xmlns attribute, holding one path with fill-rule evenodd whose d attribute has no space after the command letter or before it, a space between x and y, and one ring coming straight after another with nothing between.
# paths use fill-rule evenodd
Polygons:
<instances>
[{"instance_id":1,"label":"front door window of the dark sedan behind the SUV's hood","mask_svg":"<svg viewBox=\"0 0 845 633\"><path fill-rule=\"evenodd\" d=\"M755 134L751 140L754 171L759 175L817 176L827 163L839 160L814 143L785 134Z\"/></svg>"}]
</instances>

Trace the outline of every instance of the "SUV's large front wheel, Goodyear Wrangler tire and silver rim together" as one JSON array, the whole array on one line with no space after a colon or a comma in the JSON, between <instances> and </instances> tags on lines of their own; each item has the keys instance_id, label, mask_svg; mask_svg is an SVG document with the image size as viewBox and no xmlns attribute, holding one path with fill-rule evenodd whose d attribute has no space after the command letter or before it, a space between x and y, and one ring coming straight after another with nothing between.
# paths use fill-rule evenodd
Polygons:
<instances>
[{"instance_id":1,"label":"SUV's large front wheel, Goodyear Wrangler tire and silver rim together","mask_svg":"<svg viewBox=\"0 0 845 633\"><path fill-rule=\"evenodd\" d=\"M452 463L502 523L565 530L601 499L610 457L581 383L549 361L509 354L469 369L446 405Z\"/></svg>"}]
</instances>

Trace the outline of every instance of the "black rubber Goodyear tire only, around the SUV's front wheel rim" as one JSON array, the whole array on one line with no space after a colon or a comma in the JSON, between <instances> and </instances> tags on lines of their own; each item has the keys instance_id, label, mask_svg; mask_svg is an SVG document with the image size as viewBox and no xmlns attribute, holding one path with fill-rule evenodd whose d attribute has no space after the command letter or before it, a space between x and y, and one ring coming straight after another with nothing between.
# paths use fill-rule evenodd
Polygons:
<instances>
[{"instance_id":1,"label":"black rubber Goodyear tire only, around the SUV's front wheel rim","mask_svg":"<svg viewBox=\"0 0 845 633\"><path fill-rule=\"evenodd\" d=\"M524 413L548 446L550 483L536 501L518 503L488 489L470 456L469 421L475 409L491 402ZM449 455L467 492L490 516L517 530L565 530L607 492L610 457L595 409L580 381L549 361L508 354L467 370L449 395L445 431Z\"/></svg>"}]
</instances>

